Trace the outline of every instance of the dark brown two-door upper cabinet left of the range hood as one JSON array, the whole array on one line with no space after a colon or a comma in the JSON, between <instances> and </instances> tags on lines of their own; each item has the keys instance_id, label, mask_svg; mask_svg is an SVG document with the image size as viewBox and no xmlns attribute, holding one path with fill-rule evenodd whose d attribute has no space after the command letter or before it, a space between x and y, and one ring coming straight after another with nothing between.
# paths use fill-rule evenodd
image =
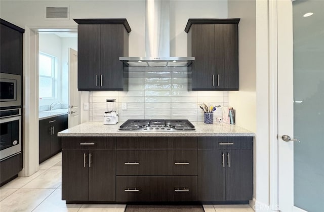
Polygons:
<instances>
[{"instance_id":1,"label":"dark brown two-door upper cabinet left of the range hood","mask_svg":"<svg viewBox=\"0 0 324 212\"><path fill-rule=\"evenodd\" d=\"M79 91L127 91L128 56L126 19L74 19L77 33L77 87Z\"/></svg>"}]
</instances>

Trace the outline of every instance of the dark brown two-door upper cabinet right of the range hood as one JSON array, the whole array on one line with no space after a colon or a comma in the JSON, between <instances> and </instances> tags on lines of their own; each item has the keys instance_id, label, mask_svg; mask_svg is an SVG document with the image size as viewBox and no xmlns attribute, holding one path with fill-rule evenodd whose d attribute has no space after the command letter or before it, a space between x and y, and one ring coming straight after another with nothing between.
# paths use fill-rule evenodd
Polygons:
<instances>
[{"instance_id":1,"label":"dark brown two-door upper cabinet right of the range hood","mask_svg":"<svg viewBox=\"0 0 324 212\"><path fill-rule=\"evenodd\" d=\"M188 20L189 91L238 91L239 20Z\"/></svg>"}]
</instances>

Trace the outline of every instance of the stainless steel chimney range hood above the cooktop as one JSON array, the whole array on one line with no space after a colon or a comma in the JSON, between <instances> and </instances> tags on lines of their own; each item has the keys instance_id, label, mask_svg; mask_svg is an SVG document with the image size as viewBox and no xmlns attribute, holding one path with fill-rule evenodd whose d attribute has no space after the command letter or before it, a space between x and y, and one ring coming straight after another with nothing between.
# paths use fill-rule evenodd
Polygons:
<instances>
[{"instance_id":1,"label":"stainless steel chimney range hood above the cooktop","mask_svg":"<svg viewBox=\"0 0 324 212\"><path fill-rule=\"evenodd\" d=\"M119 57L131 67L188 66L194 57L170 57L169 1L145 1L145 57Z\"/></svg>"}]
</instances>

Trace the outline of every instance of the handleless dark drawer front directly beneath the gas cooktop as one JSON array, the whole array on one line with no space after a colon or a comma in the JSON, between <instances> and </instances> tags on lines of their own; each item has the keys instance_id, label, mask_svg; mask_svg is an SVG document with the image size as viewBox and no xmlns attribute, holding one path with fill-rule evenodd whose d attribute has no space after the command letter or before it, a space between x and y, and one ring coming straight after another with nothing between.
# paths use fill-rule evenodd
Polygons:
<instances>
[{"instance_id":1,"label":"handleless dark drawer front directly beneath the gas cooktop","mask_svg":"<svg viewBox=\"0 0 324 212\"><path fill-rule=\"evenodd\" d=\"M197 137L117 137L117 149L197 149Z\"/></svg>"}]
</instances>

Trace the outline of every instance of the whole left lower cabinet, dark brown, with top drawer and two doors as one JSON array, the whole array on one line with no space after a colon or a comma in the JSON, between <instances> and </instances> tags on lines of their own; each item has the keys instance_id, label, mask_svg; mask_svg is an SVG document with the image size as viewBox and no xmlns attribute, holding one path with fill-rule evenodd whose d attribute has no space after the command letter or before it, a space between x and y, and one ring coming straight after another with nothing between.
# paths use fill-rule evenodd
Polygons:
<instances>
[{"instance_id":1,"label":"whole left lower cabinet, dark brown, with top drawer and two doors","mask_svg":"<svg viewBox=\"0 0 324 212\"><path fill-rule=\"evenodd\" d=\"M115 201L116 138L62 138L62 199Z\"/></svg>"}]
</instances>

